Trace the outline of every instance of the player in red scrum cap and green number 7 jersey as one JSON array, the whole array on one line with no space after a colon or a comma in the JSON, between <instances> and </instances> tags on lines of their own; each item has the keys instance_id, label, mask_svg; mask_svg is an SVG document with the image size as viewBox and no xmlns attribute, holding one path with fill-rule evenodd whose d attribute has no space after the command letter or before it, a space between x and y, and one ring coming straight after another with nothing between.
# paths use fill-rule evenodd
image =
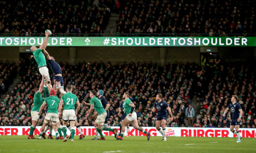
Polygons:
<instances>
[{"instance_id":1,"label":"player in red scrum cap and green number 7 jersey","mask_svg":"<svg viewBox=\"0 0 256 153\"><path fill-rule=\"evenodd\" d=\"M45 126L49 123L49 121L52 121L52 127L56 133L56 139L59 139L59 137L62 137L61 129L59 126L56 126L57 118L58 118L58 106L59 106L59 98L55 97L55 91L50 91L50 97L47 97L45 101L43 102L42 106L40 107L40 111L38 115L42 114L42 110L47 104L48 110L45 115L43 126L41 127L40 135L37 139L41 139L43 131L45 130ZM63 139L63 138L61 138Z\"/></svg>"}]
</instances>

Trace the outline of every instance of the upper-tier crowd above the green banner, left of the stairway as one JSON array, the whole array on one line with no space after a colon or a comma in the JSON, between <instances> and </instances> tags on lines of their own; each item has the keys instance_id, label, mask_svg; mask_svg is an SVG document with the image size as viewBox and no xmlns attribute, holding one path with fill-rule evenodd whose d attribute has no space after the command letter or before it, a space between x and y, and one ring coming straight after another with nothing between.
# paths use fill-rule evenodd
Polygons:
<instances>
[{"instance_id":1,"label":"upper-tier crowd above the green banner, left of the stairway","mask_svg":"<svg viewBox=\"0 0 256 153\"><path fill-rule=\"evenodd\" d=\"M99 0L0 1L0 33L41 36L38 34L50 29L52 36L100 36L108 25L111 3Z\"/></svg>"}]
</instances>

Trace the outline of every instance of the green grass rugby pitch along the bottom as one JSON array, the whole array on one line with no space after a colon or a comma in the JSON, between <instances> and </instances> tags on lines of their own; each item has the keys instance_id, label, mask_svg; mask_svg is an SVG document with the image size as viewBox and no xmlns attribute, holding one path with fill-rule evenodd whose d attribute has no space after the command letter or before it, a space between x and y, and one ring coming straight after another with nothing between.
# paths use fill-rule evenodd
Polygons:
<instances>
[{"instance_id":1,"label":"green grass rugby pitch along the bottom","mask_svg":"<svg viewBox=\"0 0 256 153\"><path fill-rule=\"evenodd\" d=\"M91 140L93 136L85 136L75 142L42 139L30 140L28 136L0 136L0 153L255 153L256 139L216 137L124 137L115 140L113 136L106 136L106 140ZM38 136L35 136L37 138ZM54 136L55 138L55 136Z\"/></svg>"}]
</instances>

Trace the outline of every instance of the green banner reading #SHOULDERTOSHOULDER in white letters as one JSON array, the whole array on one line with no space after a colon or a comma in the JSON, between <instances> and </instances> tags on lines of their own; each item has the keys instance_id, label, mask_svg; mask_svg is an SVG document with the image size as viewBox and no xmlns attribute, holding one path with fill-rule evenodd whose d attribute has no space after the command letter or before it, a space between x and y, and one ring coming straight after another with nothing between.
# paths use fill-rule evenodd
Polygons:
<instances>
[{"instance_id":1,"label":"green banner reading #SHOULDERTOSHOULDER in white letters","mask_svg":"<svg viewBox=\"0 0 256 153\"><path fill-rule=\"evenodd\" d=\"M0 37L0 46L38 46L45 37ZM256 37L50 37L48 46L256 46Z\"/></svg>"}]
</instances>

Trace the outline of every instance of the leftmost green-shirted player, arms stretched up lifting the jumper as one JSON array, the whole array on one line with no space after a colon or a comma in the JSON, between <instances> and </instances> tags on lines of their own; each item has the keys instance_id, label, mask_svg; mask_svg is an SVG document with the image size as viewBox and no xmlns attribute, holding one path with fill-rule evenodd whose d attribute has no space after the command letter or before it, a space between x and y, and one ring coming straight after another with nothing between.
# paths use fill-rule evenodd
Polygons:
<instances>
[{"instance_id":1,"label":"leftmost green-shirted player, arms stretched up lifting the jumper","mask_svg":"<svg viewBox=\"0 0 256 153\"><path fill-rule=\"evenodd\" d=\"M44 76L42 77L42 81L39 88L35 89L34 106L31 109L32 126L30 127L30 133L29 133L28 139L35 139L33 136L33 133L39 120L38 112L39 112L40 106L43 104L43 97L41 95L43 91L43 86L44 86Z\"/></svg>"}]
</instances>

